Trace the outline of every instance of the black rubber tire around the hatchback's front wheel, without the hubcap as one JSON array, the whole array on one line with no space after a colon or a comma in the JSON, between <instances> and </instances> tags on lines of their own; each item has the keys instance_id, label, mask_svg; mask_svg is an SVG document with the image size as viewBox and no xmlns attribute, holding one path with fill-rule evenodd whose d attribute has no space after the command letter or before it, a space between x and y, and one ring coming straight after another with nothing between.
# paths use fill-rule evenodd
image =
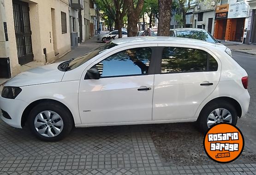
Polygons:
<instances>
[{"instance_id":1,"label":"black rubber tire around the hatchback's front wheel, without the hubcap","mask_svg":"<svg viewBox=\"0 0 256 175\"><path fill-rule=\"evenodd\" d=\"M54 113L57 113L61 117L63 121L63 129L60 132L60 134L53 137L47 137L37 132L34 125L34 121L36 119L37 114L43 111L53 111ZM74 121L72 119L72 115L70 111L63 105L60 105L56 102L42 102L36 105L35 107L33 107L33 109L31 110L28 117L28 124L29 124L31 133L35 135L38 139L42 141L60 141L70 133L70 131L74 126Z\"/></svg>"}]
</instances>

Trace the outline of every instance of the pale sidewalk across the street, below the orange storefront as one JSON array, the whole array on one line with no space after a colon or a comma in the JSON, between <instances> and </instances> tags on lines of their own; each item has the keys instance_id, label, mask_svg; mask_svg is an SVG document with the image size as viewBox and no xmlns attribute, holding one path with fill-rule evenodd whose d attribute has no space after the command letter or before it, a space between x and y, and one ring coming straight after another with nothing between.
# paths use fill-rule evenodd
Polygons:
<instances>
[{"instance_id":1,"label":"pale sidewalk across the street, below the orange storefront","mask_svg":"<svg viewBox=\"0 0 256 175\"><path fill-rule=\"evenodd\" d=\"M256 45L245 45L232 41L221 41L221 44L226 45L232 51L238 51L244 54L256 56Z\"/></svg>"}]
</instances>

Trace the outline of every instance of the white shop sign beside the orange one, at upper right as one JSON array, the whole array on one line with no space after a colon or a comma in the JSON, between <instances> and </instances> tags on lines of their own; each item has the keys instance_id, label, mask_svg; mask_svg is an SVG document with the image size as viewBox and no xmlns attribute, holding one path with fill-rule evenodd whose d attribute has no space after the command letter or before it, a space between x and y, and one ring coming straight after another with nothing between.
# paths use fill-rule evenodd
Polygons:
<instances>
[{"instance_id":1,"label":"white shop sign beside the orange one, at upper right","mask_svg":"<svg viewBox=\"0 0 256 175\"><path fill-rule=\"evenodd\" d=\"M229 0L227 18L248 17L249 5L244 0Z\"/></svg>"}]
</instances>

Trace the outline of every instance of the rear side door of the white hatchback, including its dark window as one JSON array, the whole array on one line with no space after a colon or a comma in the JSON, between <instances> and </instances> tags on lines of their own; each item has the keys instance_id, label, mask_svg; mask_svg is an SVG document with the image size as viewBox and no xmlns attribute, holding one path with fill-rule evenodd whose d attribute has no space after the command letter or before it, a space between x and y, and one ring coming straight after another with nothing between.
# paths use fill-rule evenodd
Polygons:
<instances>
[{"instance_id":1,"label":"rear side door of the white hatchback, including its dark window","mask_svg":"<svg viewBox=\"0 0 256 175\"><path fill-rule=\"evenodd\" d=\"M162 45L164 46L164 45ZM161 48L155 74L153 120L193 119L197 108L216 88L221 64L204 48Z\"/></svg>"}]
</instances>

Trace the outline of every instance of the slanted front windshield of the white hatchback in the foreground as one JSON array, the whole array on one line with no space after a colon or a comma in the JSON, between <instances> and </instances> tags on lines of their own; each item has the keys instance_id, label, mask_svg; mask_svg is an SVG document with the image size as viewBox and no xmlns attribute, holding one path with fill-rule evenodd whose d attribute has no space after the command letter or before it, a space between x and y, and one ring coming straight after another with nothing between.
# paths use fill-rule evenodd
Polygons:
<instances>
[{"instance_id":1,"label":"slanted front windshield of the white hatchback in the foreground","mask_svg":"<svg viewBox=\"0 0 256 175\"><path fill-rule=\"evenodd\" d=\"M114 44L113 42L110 42L108 44L101 45L101 46L93 49L92 51L89 51L88 53L86 53L86 54L84 54L82 56L79 56L78 58L74 59L73 61L71 61L69 63L67 71L73 70L73 69L81 66L83 63L85 63L88 60L92 59L93 57L99 55L102 51L110 49L110 48L112 48L112 47L114 47L116 45L117 44Z\"/></svg>"}]
</instances>

